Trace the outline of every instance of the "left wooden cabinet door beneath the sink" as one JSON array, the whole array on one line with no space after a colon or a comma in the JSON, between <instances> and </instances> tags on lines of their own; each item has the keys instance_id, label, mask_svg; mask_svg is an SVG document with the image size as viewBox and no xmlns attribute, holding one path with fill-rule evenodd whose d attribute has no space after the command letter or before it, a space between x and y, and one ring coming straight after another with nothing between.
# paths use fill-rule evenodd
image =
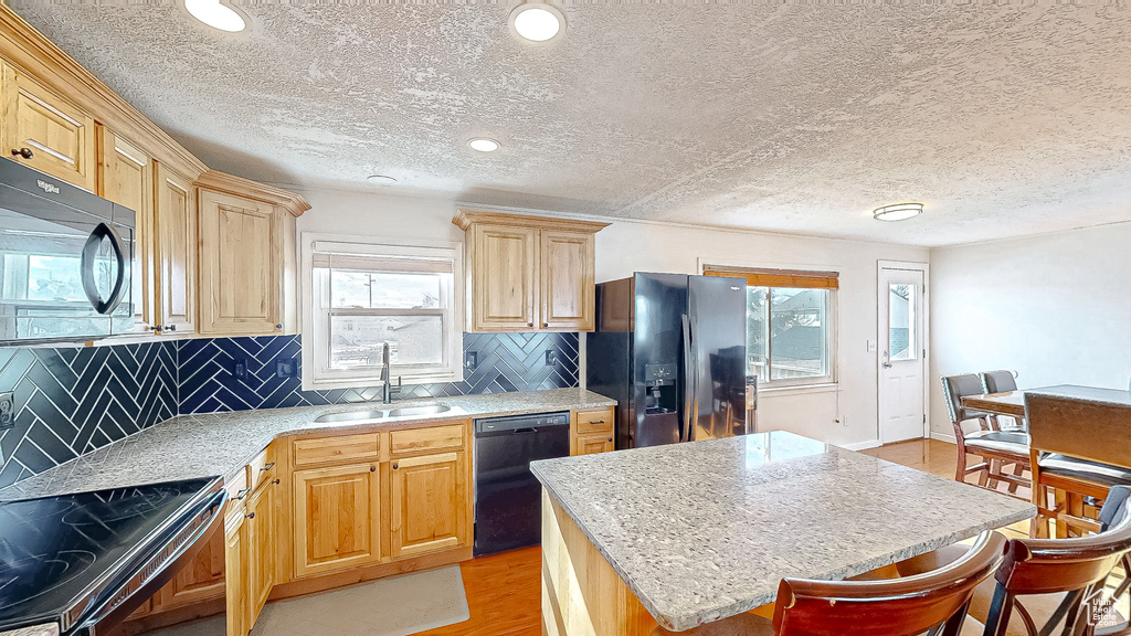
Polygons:
<instances>
[{"instance_id":1,"label":"left wooden cabinet door beneath the sink","mask_svg":"<svg viewBox=\"0 0 1131 636\"><path fill-rule=\"evenodd\" d=\"M377 463L295 471L295 575L381 558L381 478Z\"/></svg>"}]
</instances>

